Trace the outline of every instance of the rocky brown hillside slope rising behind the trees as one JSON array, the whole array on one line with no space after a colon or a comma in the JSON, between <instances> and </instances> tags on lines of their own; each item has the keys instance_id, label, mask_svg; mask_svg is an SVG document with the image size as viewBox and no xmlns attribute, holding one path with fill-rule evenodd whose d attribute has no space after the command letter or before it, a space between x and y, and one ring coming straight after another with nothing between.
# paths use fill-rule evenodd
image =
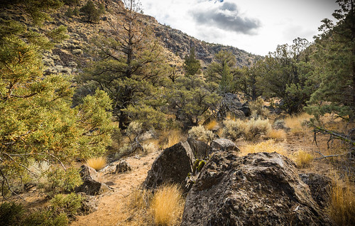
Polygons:
<instances>
[{"instance_id":1,"label":"rocky brown hillside slope rising behind the trees","mask_svg":"<svg viewBox=\"0 0 355 226\"><path fill-rule=\"evenodd\" d=\"M45 23L42 27L33 27L33 31L46 33L60 25L67 27L70 38L63 43L55 46L49 53L44 54L43 62L47 67L46 71L72 73L78 72L84 68L86 63L94 60L92 55L87 51L89 43L97 34L104 35L111 33L114 29L112 26L117 21L122 21L126 14L124 3L121 0L107 0L94 2L104 3L106 12L99 19L98 23L89 23L85 21L83 16L68 16L68 9L74 9L73 6L62 6L58 11L51 14L53 21ZM86 1L80 1L80 9ZM0 18L16 18L17 21L26 23L31 27L28 19L21 14L21 9L6 9L0 12ZM229 50L236 55L236 61L239 66L251 65L260 56L246 53L244 50L239 50L231 46L206 43L199 41L196 38L188 36L182 31L164 26L155 20L152 16L138 14L138 20L145 26L150 26L155 36L160 39L161 44L165 47L165 54L168 55L168 61L172 64L182 63L183 58L190 51L190 46L195 46L197 58L202 61L202 67L206 67L212 62L215 53L219 50Z\"/></svg>"}]
</instances>

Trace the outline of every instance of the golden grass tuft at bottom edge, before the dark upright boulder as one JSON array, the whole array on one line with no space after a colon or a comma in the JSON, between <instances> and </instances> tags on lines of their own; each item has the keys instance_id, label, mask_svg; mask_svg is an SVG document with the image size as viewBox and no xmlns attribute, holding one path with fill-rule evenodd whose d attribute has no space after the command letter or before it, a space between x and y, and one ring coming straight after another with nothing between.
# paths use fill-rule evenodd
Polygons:
<instances>
[{"instance_id":1,"label":"golden grass tuft at bottom edge, before the dark upright boulder","mask_svg":"<svg viewBox=\"0 0 355 226\"><path fill-rule=\"evenodd\" d=\"M184 205L178 185L164 185L158 189L149 207L155 225L180 225Z\"/></svg>"}]
</instances>

